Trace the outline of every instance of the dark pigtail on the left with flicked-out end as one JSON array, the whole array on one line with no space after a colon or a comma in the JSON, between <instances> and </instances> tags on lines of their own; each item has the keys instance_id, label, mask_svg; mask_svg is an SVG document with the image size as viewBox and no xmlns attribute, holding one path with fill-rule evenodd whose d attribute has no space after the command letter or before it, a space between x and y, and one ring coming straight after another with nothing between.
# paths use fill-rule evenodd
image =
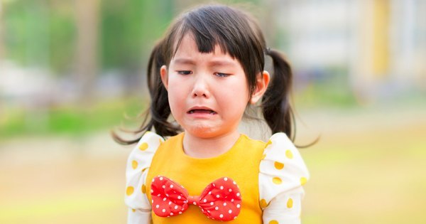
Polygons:
<instances>
[{"instance_id":1,"label":"dark pigtail on the left with flicked-out end","mask_svg":"<svg viewBox=\"0 0 426 224\"><path fill-rule=\"evenodd\" d=\"M168 103L168 92L160 76L160 68L162 65L165 65L165 58L163 56L163 41L160 41L151 52L146 74L151 105L142 115L144 119L139 129L135 131L120 129L121 131L133 134L141 133L141 137L145 132L153 129L155 129L157 134L163 137L173 136L181 131L179 125L168 122L171 111ZM133 140L125 140L119 137L115 132L111 132L111 135L119 144L134 144L141 139L141 137L138 137Z\"/></svg>"}]
</instances>

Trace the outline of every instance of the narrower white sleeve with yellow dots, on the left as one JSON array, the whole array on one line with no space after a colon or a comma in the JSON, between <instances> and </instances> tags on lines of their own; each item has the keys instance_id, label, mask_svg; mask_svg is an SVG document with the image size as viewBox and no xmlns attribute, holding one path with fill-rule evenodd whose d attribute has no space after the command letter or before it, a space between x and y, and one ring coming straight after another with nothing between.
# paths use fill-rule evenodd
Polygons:
<instances>
[{"instance_id":1,"label":"narrower white sleeve with yellow dots, on the left","mask_svg":"<svg viewBox=\"0 0 426 224\"><path fill-rule=\"evenodd\" d=\"M146 132L131 151L126 166L126 196L129 207L127 223L151 223L151 203L146 197L146 175L155 154L164 139L153 132Z\"/></svg>"}]
</instances>

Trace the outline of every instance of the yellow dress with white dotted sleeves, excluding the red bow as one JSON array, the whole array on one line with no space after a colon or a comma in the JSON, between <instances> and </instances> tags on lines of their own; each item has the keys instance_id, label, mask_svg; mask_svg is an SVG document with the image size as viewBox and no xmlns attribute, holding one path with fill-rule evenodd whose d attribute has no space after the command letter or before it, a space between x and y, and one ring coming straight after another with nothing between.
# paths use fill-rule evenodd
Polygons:
<instances>
[{"instance_id":1,"label":"yellow dress with white dotted sleeves, excluding the red bow","mask_svg":"<svg viewBox=\"0 0 426 224\"><path fill-rule=\"evenodd\" d=\"M219 223L193 205L169 218L151 212L151 181L158 175L180 183L190 196L200 196L218 178L234 179L241 191L241 212L227 223L300 223L301 185L309 174L297 149L290 149L293 144L290 148L283 145L285 141L281 139L287 139L283 133L276 135L279 141L273 136L268 143L241 134L229 151L207 159L187 156L182 149L183 136L178 134L164 141L148 132L133 149L126 170L128 223ZM289 170L283 172L285 168ZM277 213L281 207L283 210Z\"/></svg>"}]
</instances>

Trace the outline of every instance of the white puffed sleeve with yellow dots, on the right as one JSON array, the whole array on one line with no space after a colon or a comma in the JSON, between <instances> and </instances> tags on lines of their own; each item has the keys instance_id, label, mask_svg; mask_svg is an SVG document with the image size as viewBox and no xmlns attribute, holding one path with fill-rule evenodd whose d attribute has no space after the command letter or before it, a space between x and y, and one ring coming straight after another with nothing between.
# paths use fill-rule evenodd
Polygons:
<instances>
[{"instance_id":1,"label":"white puffed sleeve with yellow dots, on the right","mask_svg":"<svg viewBox=\"0 0 426 224\"><path fill-rule=\"evenodd\" d=\"M269 139L259 173L263 223L300 223L302 185L309 178L305 162L284 133Z\"/></svg>"}]
</instances>

